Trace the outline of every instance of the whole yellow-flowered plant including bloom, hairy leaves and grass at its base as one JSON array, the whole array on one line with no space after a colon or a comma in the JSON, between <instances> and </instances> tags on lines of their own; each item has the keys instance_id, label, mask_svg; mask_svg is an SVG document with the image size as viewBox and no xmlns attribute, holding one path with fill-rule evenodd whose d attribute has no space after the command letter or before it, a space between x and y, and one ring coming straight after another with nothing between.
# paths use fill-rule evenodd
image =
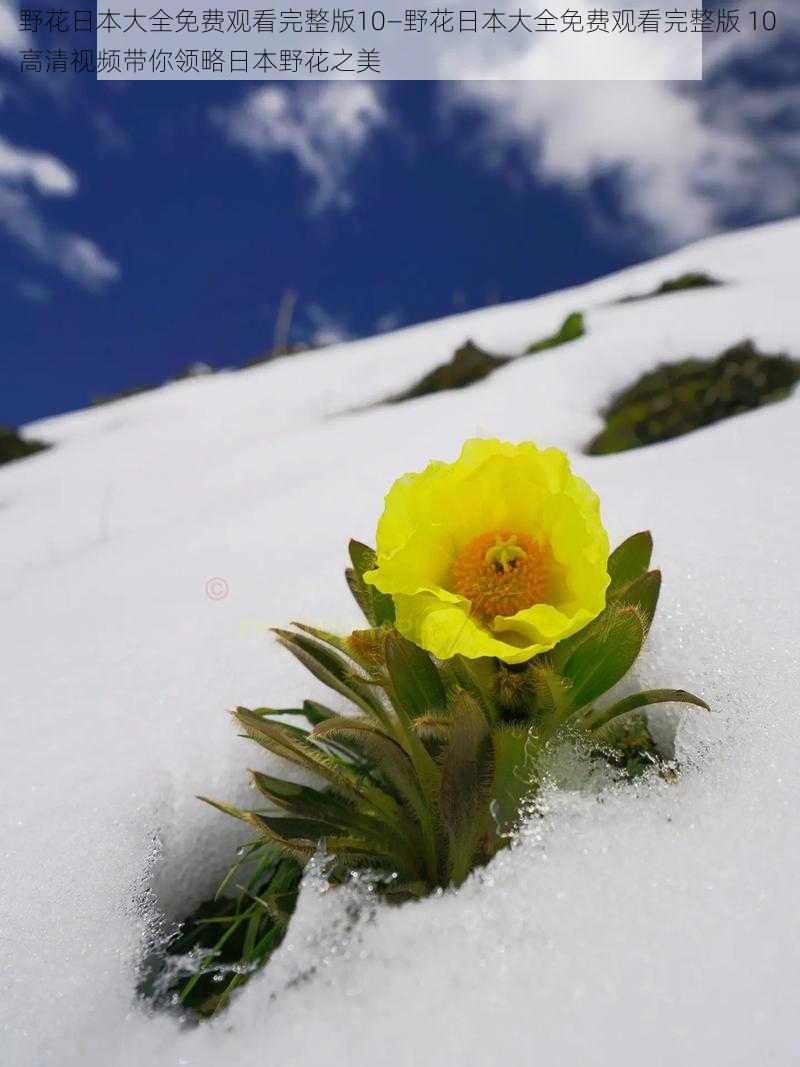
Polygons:
<instances>
[{"instance_id":1,"label":"whole yellow-flowered plant including bloom, hairy leaves and grass at its base","mask_svg":"<svg viewBox=\"0 0 800 1067\"><path fill-rule=\"evenodd\" d=\"M366 627L275 632L341 706L233 713L294 780L252 770L249 809L203 798L256 838L148 969L161 1002L219 1009L279 943L313 859L331 885L363 872L397 903L458 887L514 839L564 752L619 779L672 775L643 710L707 706L683 689L606 697L661 576L647 532L609 555L599 500L559 449L465 442L395 482L377 543L351 541L346 571Z\"/></svg>"}]
</instances>

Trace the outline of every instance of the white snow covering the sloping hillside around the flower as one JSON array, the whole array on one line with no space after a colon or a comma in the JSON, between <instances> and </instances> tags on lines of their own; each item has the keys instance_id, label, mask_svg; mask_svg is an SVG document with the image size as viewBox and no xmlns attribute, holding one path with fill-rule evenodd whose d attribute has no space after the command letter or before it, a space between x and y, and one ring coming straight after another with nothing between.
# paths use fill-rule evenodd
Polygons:
<instances>
[{"instance_id":1,"label":"white snow covering the sloping hillside around the flower","mask_svg":"<svg viewBox=\"0 0 800 1067\"><path fill-rule=\"evenodd\" d=\"M717 237L28 428L55 447L0 471L2 1063L798 1061L800 395L647 449L580 448L609 395L663 360L745 337L800 355L799 238L797 220ZM689 270L729 284L613 303ZM519 352L575 309L588 335L569 347L353 411L467 337ZM352 928L348 892L309 878L223 1017L149 1015L146 929L201 899L241 840L194 799L246 798L259 755L224 710L317 691L267 627L355 624L347 539L372 539L397 475L476 434L566 448L612 539L653 529L665 587L639 680L715 707L681 719L684 773L548 796L459 893L374 904Z\"/></svg>"}]
</instances>

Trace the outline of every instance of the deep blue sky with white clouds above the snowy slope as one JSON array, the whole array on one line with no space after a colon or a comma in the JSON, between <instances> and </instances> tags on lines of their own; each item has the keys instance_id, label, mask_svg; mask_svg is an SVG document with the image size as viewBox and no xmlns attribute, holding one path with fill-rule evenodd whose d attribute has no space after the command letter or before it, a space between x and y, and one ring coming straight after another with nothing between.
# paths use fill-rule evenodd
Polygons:
<instances>
[{"instance_id":1,"label":"deep blue sky with white clouds above the snowy slope","mask_svg":"<svg viewBox=\"0 0 800 1067\"><path fill-rule=\"evenodd\" d=\"M711 43L702 85L55 91L17 73L7 28L0 423L241 364L287 290L295 340L365 336L800 206L785 30Z\"/></svg>"}]
</instances>

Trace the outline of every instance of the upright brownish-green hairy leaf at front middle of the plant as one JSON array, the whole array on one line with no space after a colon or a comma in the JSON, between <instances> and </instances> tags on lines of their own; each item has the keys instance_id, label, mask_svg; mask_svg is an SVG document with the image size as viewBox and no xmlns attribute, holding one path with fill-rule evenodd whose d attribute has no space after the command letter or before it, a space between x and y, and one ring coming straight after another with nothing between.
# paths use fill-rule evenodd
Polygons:
<instances>
[{"instance_id":1,"label":"upright brownish-green hairy leaf at front middle of the plant","mask_svg":"<svg viewBox=\"0 0 800 1067\"><path fill-rule=\"evenodd\" d=\"M494 749L483 711L462 692L442 761L439 811L448 838L448 880L459 886L471 871L489 828Z\"/></svg>"}]
</instances>

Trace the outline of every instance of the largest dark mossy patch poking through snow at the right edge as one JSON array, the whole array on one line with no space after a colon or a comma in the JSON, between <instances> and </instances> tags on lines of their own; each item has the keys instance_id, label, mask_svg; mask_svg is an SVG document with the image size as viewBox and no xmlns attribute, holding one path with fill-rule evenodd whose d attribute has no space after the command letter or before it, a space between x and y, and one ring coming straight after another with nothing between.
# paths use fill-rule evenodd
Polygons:
<instances>
[{"instance_id":1,"label":"largest dark mossy patch poking through snow at the right edge","mask_svg":"<svg viewBox=\"0 0 800 1067\"><path fill-rule=\"evenodd\" d=\"M723 418L783 400L800 363L741 341L716 360L663 364L618 394L603 412L606 428L587 446L606 456L678 437Z\"/></svg>"}]
</instances>

